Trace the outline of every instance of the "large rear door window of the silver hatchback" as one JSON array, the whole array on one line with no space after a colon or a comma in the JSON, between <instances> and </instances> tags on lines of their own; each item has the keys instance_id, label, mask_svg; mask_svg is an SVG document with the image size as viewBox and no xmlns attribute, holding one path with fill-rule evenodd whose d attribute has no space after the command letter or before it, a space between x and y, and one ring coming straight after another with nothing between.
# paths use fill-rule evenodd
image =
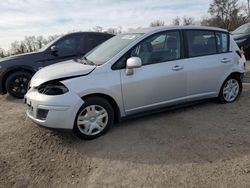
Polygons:
<instances>
[{"instance_id":1,"label":"large rear door window of the silver hatchback","mask_svg":"<svg viewBox=\"0 0 250 188\"><path fill-rule=\"evenodd\" d=\"M186 32L189 57L216 53L216 38L213 31L190 30Z\"/></svg>"}]
</instances>

